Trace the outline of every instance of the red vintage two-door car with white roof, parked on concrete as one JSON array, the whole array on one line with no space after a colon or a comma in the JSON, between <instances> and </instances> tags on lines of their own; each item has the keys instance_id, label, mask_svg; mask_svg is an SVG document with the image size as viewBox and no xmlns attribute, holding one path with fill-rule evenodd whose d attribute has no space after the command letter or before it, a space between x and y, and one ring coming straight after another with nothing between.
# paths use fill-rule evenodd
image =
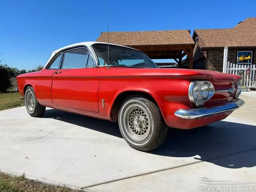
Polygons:
<instances>
[{"instance_id":1,"label":"red vintage two-door car with white roof, parked on concrete","mask_svg":"<svg viewBox=\"0 0 256 192\"><path fill-rule=\"evenodd\" d=\"M139 50L82 42L52 53L39 72L19 75L28 114L56 108L119 123L130 146L160 146L168 127L191 129L222 120L244 104L240 76L159 68Z\"/></svg>"}]
</instances>

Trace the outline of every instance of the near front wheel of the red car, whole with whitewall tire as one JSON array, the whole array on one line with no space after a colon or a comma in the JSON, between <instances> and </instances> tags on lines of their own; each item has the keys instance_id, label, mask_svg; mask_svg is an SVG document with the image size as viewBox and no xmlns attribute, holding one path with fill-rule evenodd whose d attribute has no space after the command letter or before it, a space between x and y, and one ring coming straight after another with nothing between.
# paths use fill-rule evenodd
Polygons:
<instances>
[{"instance_id":1,"label":"near front wheel of the red car, whole with whitewall tire","mask_svg":"<svg viewBox=\"0 0 256 192\"><path fill-rule=\"evenodd\" d=\"M159 147L168 131L159 107L145 98L126 100L120 108L118 123L126 142L142 151Z\"/></svg>"}]
</instances>

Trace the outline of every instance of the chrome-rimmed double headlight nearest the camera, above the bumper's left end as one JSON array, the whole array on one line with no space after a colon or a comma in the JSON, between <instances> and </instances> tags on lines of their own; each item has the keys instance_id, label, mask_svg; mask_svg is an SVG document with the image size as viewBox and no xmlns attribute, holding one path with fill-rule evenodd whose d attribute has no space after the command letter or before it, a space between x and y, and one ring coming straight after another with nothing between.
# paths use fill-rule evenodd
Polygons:
<instances>
[{"instance_id":1,"label":"chrome-rimmed double headlight nearest the camera, above the bumper's left end","mask_svg":"<svg viewBox=\"0 0 256 192\"><path fill-rule=\"evenodd\" d=\"M204 105L215 93L214 86L209 81L191 82L188 88L188 96L196 106Z\"/></svg>"}]
</instances>

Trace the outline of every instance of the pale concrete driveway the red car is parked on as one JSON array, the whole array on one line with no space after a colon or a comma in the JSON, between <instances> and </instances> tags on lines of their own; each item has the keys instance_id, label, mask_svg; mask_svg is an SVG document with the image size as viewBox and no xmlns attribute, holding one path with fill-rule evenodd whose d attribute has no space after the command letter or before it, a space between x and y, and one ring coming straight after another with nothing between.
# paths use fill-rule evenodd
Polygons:
<instances>
[{"instance_id":1,"label":"pale concrete driveway the red car is parked on","mask_svg":"<svg viewBox=\"0 0 256 192\"><path fill-rule=\"evenodd\" d=\"M42 118L25 107L4 110L0 170L88 191L256 191L256 120L237 116L170 128L166 142L147 153L129 147L113 122L54 109Z\"/></svg>"}]
</instances>

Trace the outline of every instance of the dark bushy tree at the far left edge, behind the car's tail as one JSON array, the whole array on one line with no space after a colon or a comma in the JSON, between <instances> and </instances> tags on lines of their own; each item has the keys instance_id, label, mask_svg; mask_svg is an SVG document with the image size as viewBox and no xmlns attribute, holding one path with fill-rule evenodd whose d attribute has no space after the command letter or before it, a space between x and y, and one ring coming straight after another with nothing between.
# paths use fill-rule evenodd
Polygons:
<instances>
[{"instance_id":1,"label":"dark bushy tree at the far left edge, behind the car's tail","mask_svg":"<svg viewBox=\"0 0 256 192\"><path fill-rule=\"evenodd\" d=\"M9 88L12 88L10 71L7 65L0 64L0 92L6 92Z\"/></svg>"}]
</instances>

